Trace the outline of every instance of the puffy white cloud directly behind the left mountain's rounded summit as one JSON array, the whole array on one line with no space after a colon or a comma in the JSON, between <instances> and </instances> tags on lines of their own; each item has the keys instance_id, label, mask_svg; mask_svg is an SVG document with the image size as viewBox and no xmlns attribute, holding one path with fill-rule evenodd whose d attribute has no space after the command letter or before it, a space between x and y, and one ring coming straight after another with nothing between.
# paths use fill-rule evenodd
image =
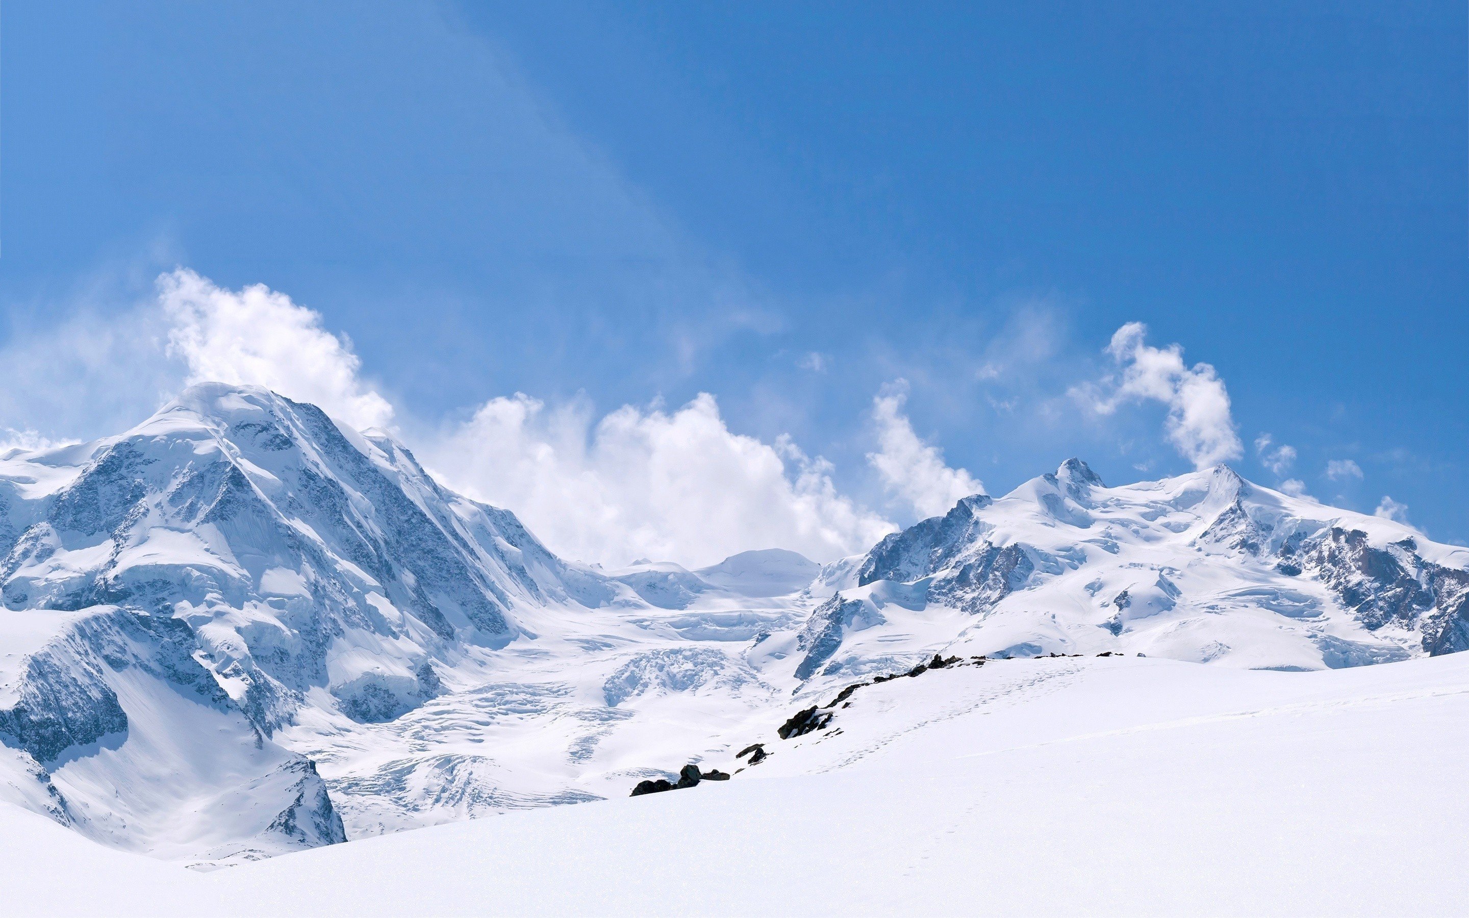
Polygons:
<instances>
[{"instance_id":1,"label":"puffy white cloud directly behind the left mountain's rounded summit","mask_svg":"<svg viewBox=\"0 0 1469 918\"><path fill-rule=\"evenodd\" d=\"M285 294L263 283L228 291L178 269L159 278L159 304L170 326L167 353L188 364L187 383L266 386L358 429L392 420L388 400L358 377L351 341Z\"/></svg>"}]
</instances>

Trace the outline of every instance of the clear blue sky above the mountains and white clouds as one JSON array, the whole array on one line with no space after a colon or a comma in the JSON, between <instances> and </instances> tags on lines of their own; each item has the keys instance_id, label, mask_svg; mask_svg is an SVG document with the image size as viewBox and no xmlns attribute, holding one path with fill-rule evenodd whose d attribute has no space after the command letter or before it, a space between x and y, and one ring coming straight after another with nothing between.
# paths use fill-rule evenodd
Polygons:
<instances>
[{"instance_id":1,"label":"clear blue sky above the mountains and white clouds","mask_svg":"<svg viewBox=\"0 0 1469 918\"><path fill-rule=\"evenodd\" d=\"M883 394L992 492L1191 469L1105 353L1141 322L1247 477L1469 539L1463 4L141 6L4 7L0 429L197 376L184 266L314 310L432 455L708 392L903 523Z\"/></svg>"}]
</instances>

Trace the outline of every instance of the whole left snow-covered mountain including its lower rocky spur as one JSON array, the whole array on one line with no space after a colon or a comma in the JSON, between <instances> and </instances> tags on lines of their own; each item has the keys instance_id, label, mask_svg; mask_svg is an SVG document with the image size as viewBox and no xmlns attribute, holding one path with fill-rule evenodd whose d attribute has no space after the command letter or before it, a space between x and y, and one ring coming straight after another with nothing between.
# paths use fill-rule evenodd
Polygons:
<instances>
[{"instance_id":1,"label":"whole left snow-covered mountain including its lower rocky spur","mask_svg":"<svg viewBox=\"0 0 1469 918\"><path fill-rule=\"evenodd\" d=\"M220 385L0 460L0 554L12 793L209 859L344 839L313 761L272 739L304 711L394 720L516 639L517 604L632 596L389 438ZM241 802L182 818L201 793Z\"/></svg>"}]
</instances>

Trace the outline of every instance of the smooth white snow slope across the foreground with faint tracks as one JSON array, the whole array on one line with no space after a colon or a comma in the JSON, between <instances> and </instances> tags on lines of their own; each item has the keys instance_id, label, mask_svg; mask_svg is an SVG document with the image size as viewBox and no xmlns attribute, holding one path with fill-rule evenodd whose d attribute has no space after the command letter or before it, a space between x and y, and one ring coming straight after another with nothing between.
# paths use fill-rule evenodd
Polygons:
<instances>
[{"instance_id":1,"label":"smooth white snow slope across the foreground with faint tracks","mask_svg":"<svg viewBox=\"0 0 1469 918\"><path fill-rule=\"evenodd\" d=\"M7 914L1463 914L1469 657L859 689L726 783L210 874L0 809ZM220 903L228 903L220 906Z\"/></svg>"}]
</instances>

